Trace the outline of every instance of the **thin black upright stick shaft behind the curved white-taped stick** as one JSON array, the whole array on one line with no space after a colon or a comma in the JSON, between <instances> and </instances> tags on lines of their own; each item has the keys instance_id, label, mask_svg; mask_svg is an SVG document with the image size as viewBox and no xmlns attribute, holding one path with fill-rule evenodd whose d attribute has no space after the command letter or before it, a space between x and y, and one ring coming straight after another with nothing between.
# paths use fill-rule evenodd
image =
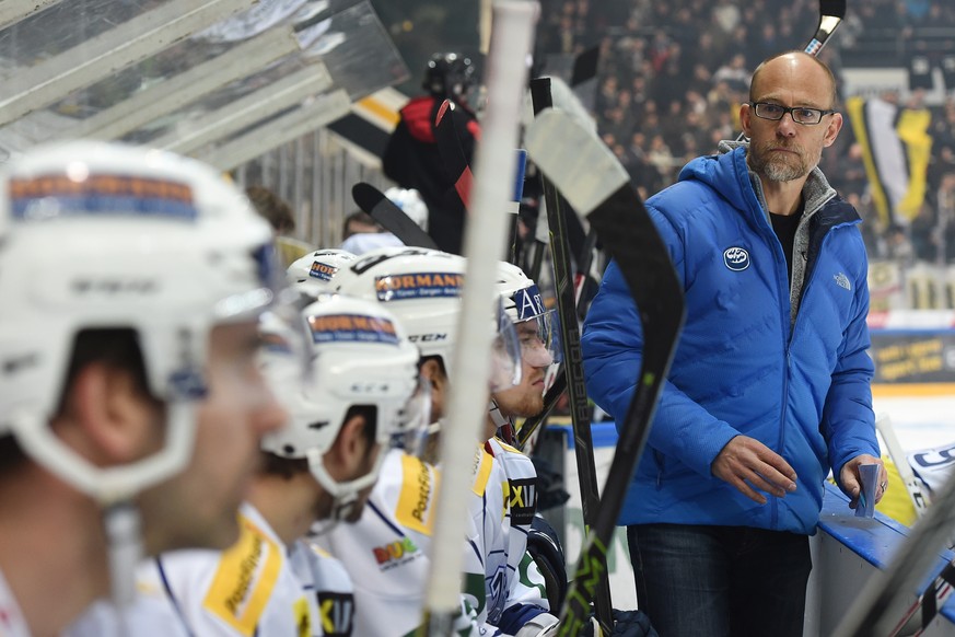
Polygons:
<instances>
[{"instance_id":1,"label":"thin black upright stick shaft behind the curved white-taped stick","mask_svg":"<svg viewBox=\"0 0 955 637\"><path fill-rule=\"evenodd\" d=\"M531 99L534 113L539 114L552 106L550 79L537 78L531 81ZM563 375L567 379L567 394L570 402L571 427L573 429L574 458L580 479L581 510L584 528L593 526L601 501L597 486L597 470L594 463L594 441L591 433L591 419L587 408L587 390L583 375L583 357L580 349L580 325L577 319L573 271L570 251L567 244L567 228L560 196L546 175L540 175L541 190L547 202L547 223L550 227L550 254L554 262L554 287L557 297L557 312L560 317L560 337L563 345ZM599 556L597 556L599 558ZM607 570L606 561L598 565ZM614 626L614 604L610 600L610 584L606 578L595 582L594 615L604 634Z\"/></svg>"}]
</instances>

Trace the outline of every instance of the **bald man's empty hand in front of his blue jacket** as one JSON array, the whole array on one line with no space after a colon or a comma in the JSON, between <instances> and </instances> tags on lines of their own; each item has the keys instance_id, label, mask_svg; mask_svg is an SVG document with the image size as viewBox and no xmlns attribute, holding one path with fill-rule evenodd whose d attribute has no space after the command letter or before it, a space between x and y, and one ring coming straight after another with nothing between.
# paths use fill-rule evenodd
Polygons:
<instances>
[{"instance_id":1,"label":"bald man's empty hand in front of his blue jacket","mask_svg":"<svg viewBox=\"0 0 955 637\"><path fill-rule=\"evenodd\" d=\"M710 471L760 505L767 500L759 491L781 498L796 488L795 471L789 463L748 436L736 436L730 440L710 465Z\"/></svg>"}]
</instances>

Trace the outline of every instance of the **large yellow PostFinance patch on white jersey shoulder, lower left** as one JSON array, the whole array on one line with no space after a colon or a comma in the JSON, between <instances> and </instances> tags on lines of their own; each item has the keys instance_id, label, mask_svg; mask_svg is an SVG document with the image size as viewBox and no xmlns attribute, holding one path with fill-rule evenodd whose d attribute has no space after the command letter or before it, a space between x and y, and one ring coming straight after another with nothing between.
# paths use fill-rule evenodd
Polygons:
<instances>
[{"instance_id":1,"label":"large yellow PostFinance patch on white jersey shoulder, lower left","mask_svg":"<svg viewBox=\"0 0 955 637\"><path fill-rule=\"evenodd\" d=\"M202 607L251 637L282 568L282 552L251 520L241 517L238 542L222 554Z\"/></svg>"}]
</instances>

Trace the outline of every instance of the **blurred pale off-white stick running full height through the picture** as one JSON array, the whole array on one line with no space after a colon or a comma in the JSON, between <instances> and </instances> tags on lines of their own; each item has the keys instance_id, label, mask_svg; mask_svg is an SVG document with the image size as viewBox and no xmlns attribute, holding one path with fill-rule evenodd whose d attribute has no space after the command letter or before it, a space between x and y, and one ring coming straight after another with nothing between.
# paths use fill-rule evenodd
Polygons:
<instances>
[{"instance_id":1,"label":"blurred pale off-white stick running full height through the picture","mask_svg":"<svg viewBox=\"0 0 955 637\"><path fill-rule=\"evenodd\" d=\"M491 349L488 309L494 299L497 262L503 254L503 209L514 175L517 123L527 70L513 60L527 57L538 5L527 0L498 0L493 40L487 63L488 111L476 153L478 179L465 229L465 288L450 370L447 419L441 435L443 473L438 490L423 626L432 637L451 635L459 609L463 544L467 524L471 461L487 418ZM484 337L482 337L484 336ZM475 384L477 382L477 384Z\"/></svg>"}]
</instances>

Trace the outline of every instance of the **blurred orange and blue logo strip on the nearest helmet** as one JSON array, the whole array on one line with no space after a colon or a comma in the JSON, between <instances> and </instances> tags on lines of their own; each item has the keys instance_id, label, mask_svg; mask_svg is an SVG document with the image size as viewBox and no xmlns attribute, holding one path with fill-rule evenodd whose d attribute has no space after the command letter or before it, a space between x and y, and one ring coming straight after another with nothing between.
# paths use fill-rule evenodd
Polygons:
<instances>
[{"instance_id":1,"label":"blurred orange and blue logo strip on the nearest helmet","mask_svg":"<svg viewBox=\"0 0 955 637\"><path fill-rule=\"evenodd\" d=\"M168 179L128 175L46 175L10 179L16 219L130 215L195 220L193 189Z\"/></svg>"}]
</instances>

